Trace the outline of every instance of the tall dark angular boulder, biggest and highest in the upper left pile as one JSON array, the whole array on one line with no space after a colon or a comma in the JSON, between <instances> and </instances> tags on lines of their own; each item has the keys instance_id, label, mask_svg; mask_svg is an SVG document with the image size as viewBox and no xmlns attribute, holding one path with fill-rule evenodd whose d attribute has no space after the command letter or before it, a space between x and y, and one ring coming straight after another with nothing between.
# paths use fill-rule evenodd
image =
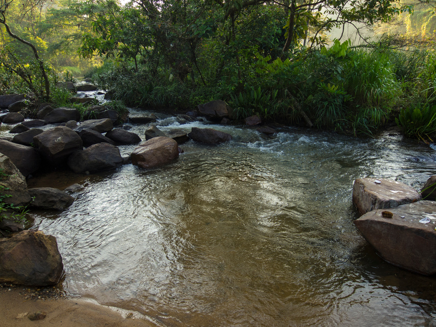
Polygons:
<instances>
[{"instance_id":1,"label":"tall dark angular boulder, biggest and highest in the upper left pile","mask_svg":"<svg viewBox=\"0 0 436 327\"><path fill-rule=\"evenodd\" d=\"M60 165L66 162L74 151L83 148L80 136L71 128L57 126L33 138L39 152L48 163Z\"/></svg>"}]
</instances>

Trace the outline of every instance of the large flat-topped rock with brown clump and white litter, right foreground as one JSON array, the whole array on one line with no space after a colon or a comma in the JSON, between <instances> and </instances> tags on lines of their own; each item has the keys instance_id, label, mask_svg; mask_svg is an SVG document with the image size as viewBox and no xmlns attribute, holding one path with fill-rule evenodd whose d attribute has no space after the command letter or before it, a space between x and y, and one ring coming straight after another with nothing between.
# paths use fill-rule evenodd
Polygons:
<instances>
[{"instance_id":1,"label":"large flat-topped rock with brown clump and white litter, right foreground","mask_svg":"<svg viewBox=\"0 0 436 327\"><path fill-rule=\"evenodd\" d=\"M383 212L391 213L392 218L383 217ZM419 222L426 217L429 223ZM412 272L436 273L436 202L374 210L354 223L385 261Z\"/></svg>"}]
</instances>

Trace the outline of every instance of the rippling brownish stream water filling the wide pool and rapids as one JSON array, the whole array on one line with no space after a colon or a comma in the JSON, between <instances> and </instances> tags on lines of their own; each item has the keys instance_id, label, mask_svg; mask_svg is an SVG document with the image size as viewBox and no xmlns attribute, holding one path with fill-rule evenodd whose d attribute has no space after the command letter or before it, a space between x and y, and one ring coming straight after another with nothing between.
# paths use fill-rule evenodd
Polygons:
<instances>
[{"instance_id":1,"label":"rippling brownish stream water filling the wide pool and rapids","mask_svg":"<svg viewBox=\"0 0 436 327\"><path fill-rule=\"evenodd\" d=\"M82 186L70 208L35 218L57 238L68 291L156 326L436 326L435 278L380 259L351 202L361 177L420 189L435 173L434 150L388 133L283 128L269 138L164 116L158 125L213 127L233 140L189 141L156 169L30 180Z\"/></svg>"}]
</instances>

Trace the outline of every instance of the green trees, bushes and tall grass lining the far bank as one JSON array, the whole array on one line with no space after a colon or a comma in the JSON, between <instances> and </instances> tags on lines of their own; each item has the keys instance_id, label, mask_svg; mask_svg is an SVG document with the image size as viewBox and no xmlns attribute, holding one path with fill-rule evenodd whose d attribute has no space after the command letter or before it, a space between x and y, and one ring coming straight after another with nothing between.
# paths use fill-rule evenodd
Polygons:
<instances>
[{"instance_id":1,"label":"green trees, bushes and tall grass lining the far bank","mask_svg":"<svg viewBox=\"0 0 436 327\"><path fill-rule=\"evenodd\" d=\"M0 93L35 108L84 109L56 86L80 76L119 109L221 99L235 119L435 137L430 0L0 0L0 24Z\"/></svg>"}]
</instances>

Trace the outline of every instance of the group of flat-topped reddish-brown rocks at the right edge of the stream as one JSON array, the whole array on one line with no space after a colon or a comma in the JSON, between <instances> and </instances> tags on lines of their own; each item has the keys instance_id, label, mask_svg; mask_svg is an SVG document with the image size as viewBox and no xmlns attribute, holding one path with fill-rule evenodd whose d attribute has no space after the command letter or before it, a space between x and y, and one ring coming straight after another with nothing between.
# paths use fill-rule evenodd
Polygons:
<instances>
[{"instance_id":1,"label":"group of flat-topped reddish-brown rocks at the right edge of the stream","mask_svg":"<svg viewBox=\"0 0 436 327\"><path fill-rule=\"evenodd\" d=\"M420 193L394 180L354 181L353 202L363 215L355 224L382 259L409 271L436 273L435 188L436 176Z\"/></svg>"}]
</instances>

